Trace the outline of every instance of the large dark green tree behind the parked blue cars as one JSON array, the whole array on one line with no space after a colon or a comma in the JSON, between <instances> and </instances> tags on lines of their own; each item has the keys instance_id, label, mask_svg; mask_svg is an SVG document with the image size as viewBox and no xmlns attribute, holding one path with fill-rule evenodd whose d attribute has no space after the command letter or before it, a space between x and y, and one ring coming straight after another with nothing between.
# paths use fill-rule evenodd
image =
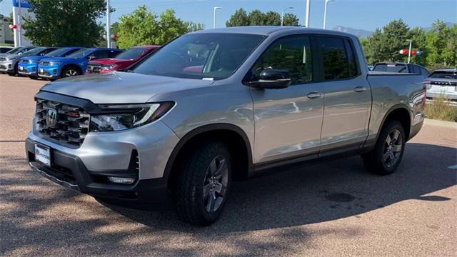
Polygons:
<instances>
[{"instance_id":1,"label":"large dark green tree behind the parked blue cars","mask_svg":"<svg viewBox=\"0 0 457 257\"><path fill-rule=\"evenodd\" d=\"M35 19L24 17L25 36L42 46L94 46L101 38L105 0L29 0Z\"/></svg>"}]
</instances>

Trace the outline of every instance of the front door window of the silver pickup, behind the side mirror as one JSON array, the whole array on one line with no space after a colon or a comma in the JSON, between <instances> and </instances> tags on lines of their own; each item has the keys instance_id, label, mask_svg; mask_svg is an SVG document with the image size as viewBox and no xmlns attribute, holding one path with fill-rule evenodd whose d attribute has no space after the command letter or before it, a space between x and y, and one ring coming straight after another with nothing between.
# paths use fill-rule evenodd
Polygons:
<instances>
[{"instance_id":1,"label":"front door window of the silver pickup, behind the side mirror","mask_svg":"<svg viewBox=\"0 0 457 257\"><path fill-rule=\"evenodd\" d=\"M291 74L291 85L313 80L313 60L309 36L287 36L273 42L250 71L251 81L264 69L283 69Z\"/></svg>"}]
</instances>

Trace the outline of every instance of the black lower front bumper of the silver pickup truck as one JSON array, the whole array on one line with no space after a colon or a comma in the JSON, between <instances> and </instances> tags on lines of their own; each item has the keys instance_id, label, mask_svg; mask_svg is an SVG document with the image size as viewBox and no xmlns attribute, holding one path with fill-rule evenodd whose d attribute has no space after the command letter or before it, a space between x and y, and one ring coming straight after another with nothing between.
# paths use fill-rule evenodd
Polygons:
<instances>
[{"instance_id":1,"label":"black lower front bumper of the silver pickup truck","mask_svg":"<svg viewBox=\"0 0 457 257\"><path fill-rule=\"evenodd\" d=\"M61 186L91 196L135 203L166 204L169 201L165 178L137 179L132 185L116 184L104 181L100 173L114 176L129 171L91 171L81 158L55 150L51 152L51 166L35 161L35 141L26 139L26 154L29 165L41 175Z\"/></svg>"}]
</instances>

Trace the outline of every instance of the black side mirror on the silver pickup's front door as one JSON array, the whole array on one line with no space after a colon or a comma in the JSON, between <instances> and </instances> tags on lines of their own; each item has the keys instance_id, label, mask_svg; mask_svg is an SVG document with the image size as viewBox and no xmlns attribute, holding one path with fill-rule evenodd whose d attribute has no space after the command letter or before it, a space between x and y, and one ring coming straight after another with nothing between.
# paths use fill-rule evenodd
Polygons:
<instances>
[{"instance_id":1,"label":"black side mirror on the silver pickup's front door","mask_svg":"<svg viewBox=\"0 0 457 257\"><path fill-rule=\"evenodd\" d=\"M264 69L258 81L248 82L248 86L258 89L285 89L290 85L291 74L281 69Z\"/></svg>"}]
</instances>

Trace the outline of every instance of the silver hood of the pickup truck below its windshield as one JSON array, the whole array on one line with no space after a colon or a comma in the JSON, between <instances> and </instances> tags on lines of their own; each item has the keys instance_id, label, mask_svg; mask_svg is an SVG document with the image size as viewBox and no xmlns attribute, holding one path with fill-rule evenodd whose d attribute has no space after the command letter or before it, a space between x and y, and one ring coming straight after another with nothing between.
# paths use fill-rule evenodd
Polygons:
<instances>
[{"instance_id":1,"label":"silver hood of the pickup truck below its windshield","mask_svg":"<svg viewBox=\"0 0 457 257\"><path fill-rule=\"evenodd\" d=\"M94 104L141 104L157 94L209 86L213 82L113 72L59 79L46 84L41 91L88 99Z\"/></svg>"}]
</instances>

